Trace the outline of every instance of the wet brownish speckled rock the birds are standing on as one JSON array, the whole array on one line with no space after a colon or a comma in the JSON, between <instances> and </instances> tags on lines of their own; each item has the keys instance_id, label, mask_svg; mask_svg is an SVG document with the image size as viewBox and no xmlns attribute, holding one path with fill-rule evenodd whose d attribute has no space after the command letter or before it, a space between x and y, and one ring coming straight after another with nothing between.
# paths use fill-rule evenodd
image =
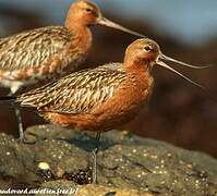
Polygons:
<instances>
[{"instance_id":1,"label":"wet brownish speckled rock the birds are standing on","mask_svg":"<svg viewBox=\"0 0 217 196\"><path fill-rule=\"evenodd\" d=\"M100 139L98 185L87 186L94 133L39 125L27 128L25 137L28 144L0 134L1 189L71 187L75 195L217 195L217 160L201 152L111 131Z\"/></svg>"}]
</instances>

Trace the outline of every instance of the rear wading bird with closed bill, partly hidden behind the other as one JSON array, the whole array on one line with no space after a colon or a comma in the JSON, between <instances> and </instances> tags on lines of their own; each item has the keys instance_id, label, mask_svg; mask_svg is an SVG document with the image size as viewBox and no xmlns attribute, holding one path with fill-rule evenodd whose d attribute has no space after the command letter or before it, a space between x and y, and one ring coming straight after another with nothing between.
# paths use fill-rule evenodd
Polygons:
<instances>
[{"instance_id":1,"label":"rear wading bird with closed bill, partly hidden behind the other","mask_svg":"<svg viewBox=\"0 0 217 196\"><path fill-rule=\"evenodd\" d=\"M15 95L25 86L75 71L92 47L92 25L143 36L107 20L91 1L76 0L69 10L64 26L47 26L0 38L0 85L9 87L10 95ZM20 139L23 140L21 112L19 109L15 112Z\"/></svg>"}]
</instances>

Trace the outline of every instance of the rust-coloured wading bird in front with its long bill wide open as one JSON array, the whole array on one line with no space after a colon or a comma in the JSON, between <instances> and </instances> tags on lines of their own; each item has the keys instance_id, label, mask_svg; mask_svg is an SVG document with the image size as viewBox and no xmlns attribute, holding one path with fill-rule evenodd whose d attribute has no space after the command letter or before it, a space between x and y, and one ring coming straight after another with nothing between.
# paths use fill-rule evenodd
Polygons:
<instances>
[{"instance_id":1,"label":"rust-coloured wading bird in front with its long bill wide open","mask_svg":"<svg viewBox=\"0 0 217 196\"><path fill-rule=\"evenodd\" d=\"M99 143L101 132L133 120L147 102L153 90L152 69L155 64L169 69L203 88L162 60L193 69L208 68L194 66L171 59L162 54L157 42L144 38L128 47L123 63L108 63L93 70L75 72L9 99L21 107L35 108L44 119L53 124L97 132ZM97 151L98 146L94 149L93 182L97 180Z\"/></svg>"}]
</instances>

